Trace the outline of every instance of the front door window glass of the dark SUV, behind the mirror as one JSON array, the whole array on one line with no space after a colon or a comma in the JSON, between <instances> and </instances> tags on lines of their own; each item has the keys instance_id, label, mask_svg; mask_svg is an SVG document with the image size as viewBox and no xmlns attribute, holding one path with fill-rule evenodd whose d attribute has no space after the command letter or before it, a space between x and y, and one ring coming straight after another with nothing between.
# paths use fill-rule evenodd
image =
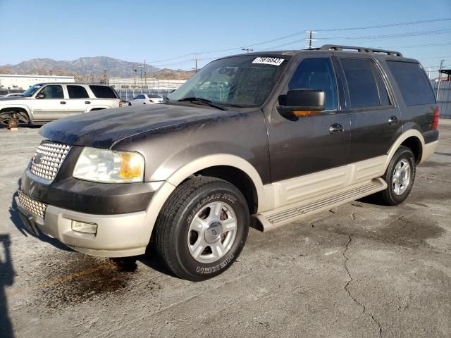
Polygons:
<instances>
[{"instance_id":1,"label":"front door window glass of the dark SUV, behind the mirror","mask_svg":"<svg viewBox=\"0 0 451 338\"><path fill-rule=\"evenodd\" d=\"M326 110L338 108L337 81L330 58L307 58L297 66L288 90L320 89L326 94Z\"/></svg>"}]
</instances>

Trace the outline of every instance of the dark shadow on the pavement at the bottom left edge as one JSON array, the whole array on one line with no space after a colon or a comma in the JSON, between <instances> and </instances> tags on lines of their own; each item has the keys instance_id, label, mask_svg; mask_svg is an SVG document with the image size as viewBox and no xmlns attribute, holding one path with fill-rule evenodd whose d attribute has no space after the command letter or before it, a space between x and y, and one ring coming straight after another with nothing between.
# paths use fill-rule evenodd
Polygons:
<instances>
[{"instance_id":1,"label":"dark shadow on the pavement at the bottom left edge","mask_svg":"<svg viewBox=\"0 0 451 338\"><path fill-rule=\"evenodd\" d=\"M14 282L14 269L9 249L11 240L9 234L0 234L0 337L12 338L13 325L8 316L8 303L6 299L6 287ZM1 251L4 254L1 254Z\"/></svg>"}]
</instances>

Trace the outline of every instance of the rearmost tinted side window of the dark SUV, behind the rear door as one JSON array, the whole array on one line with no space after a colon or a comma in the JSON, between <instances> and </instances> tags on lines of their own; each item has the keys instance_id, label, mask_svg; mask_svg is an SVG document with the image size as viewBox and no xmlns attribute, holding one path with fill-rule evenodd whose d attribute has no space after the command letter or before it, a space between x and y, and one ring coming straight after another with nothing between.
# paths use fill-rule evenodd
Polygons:
<instances>
[{"instance_id":1,"label":"rearmost tinted side window of the dark SUV, behind the rear door","mask_svg":"<svg viewBox=\"0 0 451 338\"><path fill-rule=\"evenodd\" d=\"M435 104L431 84L419 63L387 61L387 64L407 106Z\"/></svg>"}]
</instances>

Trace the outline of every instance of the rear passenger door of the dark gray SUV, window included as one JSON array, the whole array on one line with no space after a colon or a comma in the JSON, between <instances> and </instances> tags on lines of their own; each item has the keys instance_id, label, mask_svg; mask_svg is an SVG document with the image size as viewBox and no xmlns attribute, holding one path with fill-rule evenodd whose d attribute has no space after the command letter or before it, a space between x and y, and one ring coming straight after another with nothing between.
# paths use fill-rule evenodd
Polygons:
<instances>
[{"instance_id":1,"label":"rear passenger door of the dark gray SUV, window included","mask_svg":"<svg viewBox=\"0 0 451 338\"><path fill-rule=\"evenodd\" d=\"M371 57L340 57L338 61L352 125L350 161L387 154L402 133L402 115L386 75Z\"/></svg>"}]
</instances>

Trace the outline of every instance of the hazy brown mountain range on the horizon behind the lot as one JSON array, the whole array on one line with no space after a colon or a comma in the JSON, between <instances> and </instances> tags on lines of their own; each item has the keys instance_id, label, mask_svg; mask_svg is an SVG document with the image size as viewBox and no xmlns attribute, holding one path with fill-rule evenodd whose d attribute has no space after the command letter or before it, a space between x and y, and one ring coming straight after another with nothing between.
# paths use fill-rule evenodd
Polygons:
<instances>
[{"instance_id":1,"label":"hazy brown mountain range on the horizon behind the lot","mask_svg":"<svg viewBox=\"0 0 451 338\"><path fill-rule=\"evenodd\" d=\"M0 65L0 73L41 74L41 75L101 75L106 70L109 77L132 77L134 70L140 76L140 63L95 56L78 58L73 61L56 61L51 58L34 58L16 65ZM193 72L185 70L170 70L146 65L148 77L177 78L183 80L192 76ZM144 72L143 72L144 73Z\"/></svg>"}]
</instances>

